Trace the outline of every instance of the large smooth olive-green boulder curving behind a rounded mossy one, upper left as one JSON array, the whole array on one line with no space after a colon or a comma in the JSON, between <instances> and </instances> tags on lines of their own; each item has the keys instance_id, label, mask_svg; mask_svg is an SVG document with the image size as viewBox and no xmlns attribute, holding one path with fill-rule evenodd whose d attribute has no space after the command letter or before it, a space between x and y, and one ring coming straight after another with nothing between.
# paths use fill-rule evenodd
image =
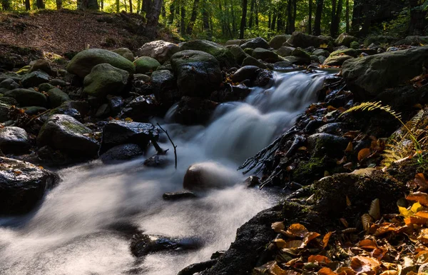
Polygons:
<instances>
[{"instance_id":1,"label":"large smooth olive-green boulder curving behind a rounded mossy one, upper left","mask_svg":"<svg viewBox=\"0 0 428 275\"><path fill-rule=\"evenodd\" d=\"M76 74L84 78L94 66L103 63L128 71L130 74L136 72L136 67L131 61L120 54L105 49L87 49L79 52L71 59L66 69L70 74Z\"/></svg>"}]
</instances>

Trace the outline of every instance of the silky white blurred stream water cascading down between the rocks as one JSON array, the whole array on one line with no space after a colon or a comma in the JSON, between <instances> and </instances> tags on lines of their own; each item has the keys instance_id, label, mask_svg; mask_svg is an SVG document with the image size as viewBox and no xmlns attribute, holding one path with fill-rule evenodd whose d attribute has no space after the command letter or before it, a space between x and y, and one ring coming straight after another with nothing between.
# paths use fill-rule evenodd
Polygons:
<instances>
[{"instance_id":1,"label":"silky white blurred stream water cascading down between the rocks","mask_svg":"<svg viewBox=\"0 0 428 275\"><path fill-rule=\"evenodd\" d=\"M234 182L242 180L236 167L289 128L297 114L315 101L324 79L324 73L277 73L272 88L253 89L245 102L218 106L206 128L163 124L178 145L177 170L173 165L146 168L142 157L117 165L93 161L59 171L63 181L39 209L0 219L0 274L104 275L133 270L133 274L173 275L227 249L236 229L271 206L272 197L242 184L185 201L163 201L162 194L181 189L188 166L200 161L211 161ZM147 155L151 154L154 151ZM173 163L173 154L168 158ZM203 245L136 259L129 237L114 230L121 224L133 224L146 234L197 238Z\"/></svg>"}]
</instances>

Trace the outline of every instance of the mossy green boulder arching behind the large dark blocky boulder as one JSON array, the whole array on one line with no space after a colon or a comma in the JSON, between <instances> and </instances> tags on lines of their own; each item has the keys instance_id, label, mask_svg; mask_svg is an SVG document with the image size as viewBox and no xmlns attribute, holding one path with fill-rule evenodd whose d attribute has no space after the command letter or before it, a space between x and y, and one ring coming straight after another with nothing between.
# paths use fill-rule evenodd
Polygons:
<instances>
[{"instance_id":1,"label":"mossy green boulder arching behind the large dark blocky boulder","mask_svg":"<svg viewBox=\"0 0 428 275\"><path fill-rule=\"evenodd\" d=\"M204 51L211 54L218 60L221 67L230 68L236 66L235 56L228 48L208 40L193 40L183 43L180 46L181 50Z\"/></svg>"}]
</instances>

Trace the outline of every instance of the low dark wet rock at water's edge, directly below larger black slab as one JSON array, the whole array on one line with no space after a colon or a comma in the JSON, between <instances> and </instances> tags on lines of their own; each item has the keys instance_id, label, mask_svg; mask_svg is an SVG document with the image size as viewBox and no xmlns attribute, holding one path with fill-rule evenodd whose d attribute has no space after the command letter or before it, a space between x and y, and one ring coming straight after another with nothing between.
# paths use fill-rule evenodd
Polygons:
<instances>
[{"instance_id":1,"label":"low dark wet rock at water's edge, directly below larger black slab","mask_svg":"<svg viewBox=\"0 0 428 275\"><path fill-rule=\"evenodd\" d=\"M135 159L144 154L143 149L137 144L121 144L114 146L100 156L103 164L117 164L122 161Z\"/></svg>"}]
</instances>

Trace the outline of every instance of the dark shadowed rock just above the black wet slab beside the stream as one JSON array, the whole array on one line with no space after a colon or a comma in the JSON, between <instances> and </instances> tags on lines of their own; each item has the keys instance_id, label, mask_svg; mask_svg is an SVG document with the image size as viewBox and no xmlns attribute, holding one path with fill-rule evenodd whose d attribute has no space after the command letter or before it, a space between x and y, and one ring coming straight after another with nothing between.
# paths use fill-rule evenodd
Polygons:
<instances>
[{"instance_id":1,"label":"dark shadowed rock just above the black wet slab beside the stream","mask_svg":"<svg viewBox=\"0 0 428 275\"><path fill-rule=\"evenodd\" d=\"M143 122L147 121L150 116L156 116L162 111L155 96L138 96L133 99L122 110L121 117L131 118L133 121Z\"/></svg>"}]
</instances>

